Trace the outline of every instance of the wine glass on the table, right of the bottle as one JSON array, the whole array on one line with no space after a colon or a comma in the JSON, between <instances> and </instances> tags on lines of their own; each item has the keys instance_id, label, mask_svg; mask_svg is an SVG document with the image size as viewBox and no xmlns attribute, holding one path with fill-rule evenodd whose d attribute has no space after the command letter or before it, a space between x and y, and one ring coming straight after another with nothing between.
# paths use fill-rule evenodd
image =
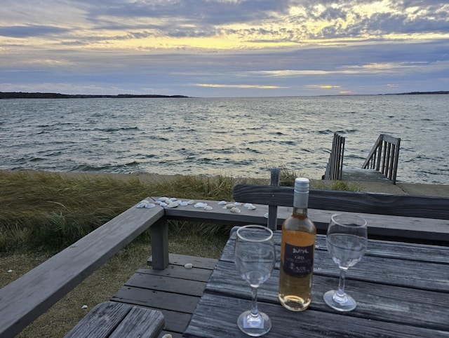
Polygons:
<instances>
[{"instance_id":1,"label":"wine glass on the table, right of the bottle","mask_svg":"<svg viewBox=\"0 0 449 338\"><path fill-rule=\"evenodd\" d=\"M338 290L329 290L324 302L337 311L351 311L356 301L344 292L344 277L349 266L354 266L365 255L368 245L366 220L356 215L341 213L330 219L326 243L335 264L340 267Z\"/></svg>"}]
</instances>

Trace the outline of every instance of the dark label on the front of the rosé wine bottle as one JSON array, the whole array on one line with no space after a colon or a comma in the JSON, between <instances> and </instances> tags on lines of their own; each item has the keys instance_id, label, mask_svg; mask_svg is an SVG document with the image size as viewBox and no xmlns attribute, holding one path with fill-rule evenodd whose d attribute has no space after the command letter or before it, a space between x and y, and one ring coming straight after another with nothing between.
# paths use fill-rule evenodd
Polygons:
<instances>
[{"instance_id":1,"label":"dark label on the front of the ros\u00e9 wine bottle","mask_svg":"<svg viewBox=\"0 0 449 338\"><path fill-rule=\"evenodd\" d=\"M304 277L314 270L314 245L295 246L286 243L283 271L290 276Z\"/></svg>"}]
</instances>

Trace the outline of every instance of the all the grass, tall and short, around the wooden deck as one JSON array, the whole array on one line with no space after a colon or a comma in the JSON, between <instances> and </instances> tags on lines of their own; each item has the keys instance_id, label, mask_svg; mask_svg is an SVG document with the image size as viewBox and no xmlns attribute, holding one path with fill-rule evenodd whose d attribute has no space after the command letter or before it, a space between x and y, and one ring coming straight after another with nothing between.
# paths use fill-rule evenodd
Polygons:
<instances>
[{"instance_id":1,"label":"all the grass, tall and short, around the wooden deck","mask_svg":"<svg viewBox=\"0 0 449 338\"><path fill-rule=\"evenodd\" d=\"M281 181L297 176L283 170ZM232 199L238 182L232 177L142 177L123 175L62 175L0 171L0 287L11 283L96 227L147 196L189 199ZM320 184L314 184L320 188ZM334 189L351 189L336 182ZM173 222L170 252L220 257L229 227ZM142 234L95 271L77 288L29 325L19 337L62 337L99 302L109 299L133 272L146 267L151 254L149 233ZM83 305L88 309L81 309Z\"/></svg>"}]
</instances>

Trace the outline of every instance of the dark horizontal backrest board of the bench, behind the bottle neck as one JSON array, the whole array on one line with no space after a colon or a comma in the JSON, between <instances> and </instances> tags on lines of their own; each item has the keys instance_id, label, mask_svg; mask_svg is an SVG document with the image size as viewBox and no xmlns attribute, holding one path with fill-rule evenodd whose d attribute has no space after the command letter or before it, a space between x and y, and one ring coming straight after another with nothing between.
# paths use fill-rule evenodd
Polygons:
<instances>
[{"instance_id":1,"label":"dark horizontal backrest board of the bench, behind the bottle neck","mask_svg":"<svg viewBox=\"0 0 449 338\"><path fill-rule=\"evenodd\" d=\"M234 187L233 196L235 201L244 203L293 205L292 187L237 184ZM449 219L449 198L441 197L311 189L309 192L309 208L376 215Z\"/></svg>"}]
</instances>

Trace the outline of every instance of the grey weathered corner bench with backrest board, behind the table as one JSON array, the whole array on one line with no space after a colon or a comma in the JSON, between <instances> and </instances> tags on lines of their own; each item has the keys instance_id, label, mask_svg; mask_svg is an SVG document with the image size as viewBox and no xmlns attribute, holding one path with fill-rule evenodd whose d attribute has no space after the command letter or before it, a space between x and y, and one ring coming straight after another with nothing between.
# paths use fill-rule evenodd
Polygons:
<instances>
[{"instance_id":1,"label":"grey weathered corner bench with backrest board, behind the table","mask_svg":"<svg viewBox=\"0 0 449 338\"><path fill-rule=\"evenodd\" d=\"M213 209L177 208L130 209L102 227L32 269L0 290L0 337L14 337L55 302L76 287L95 269L146 229L152 238L153 269L169 263L168 220L223 225L276 224L292 212L293 188L238 184L235 201L254 203L255 210L223 209L218 201L203 201ZM156 198L147 198L155 201ZM368 221L368 234L403 241L426 241L448 245L449 199L348 191L310 191L309 215L319 232L326 232L333 210L358 212ZM267 215L269 215L267 219Z\"/></svg>"}]
</instances>

